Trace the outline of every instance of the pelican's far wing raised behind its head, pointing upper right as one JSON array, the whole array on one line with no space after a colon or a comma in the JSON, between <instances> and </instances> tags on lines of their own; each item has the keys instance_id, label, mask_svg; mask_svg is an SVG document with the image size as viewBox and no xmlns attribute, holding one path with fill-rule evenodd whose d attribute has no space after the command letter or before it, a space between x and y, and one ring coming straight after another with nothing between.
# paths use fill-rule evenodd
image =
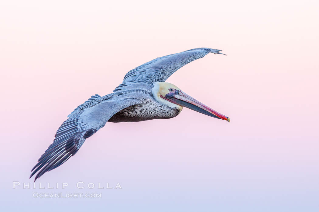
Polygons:
<instances>
[{"instance_id":1,"label":"pelican's far wing raised behind its head, pointing upper right","mask_svg":"<svg viewBox=\"0 0 319 212\"><path fill-rule=\"evenodd\" d=\"M221 50L197 48L153 59L150 62L129 71L124 76L122 84L117 86L113 92L122 90L126 85L132 85L134 83L153 85L154 82L165 82L169 76L182 66L196 59L203 58L210 52L214 54L223 54L219 51Z\"/></svg>"}]
</instances>

